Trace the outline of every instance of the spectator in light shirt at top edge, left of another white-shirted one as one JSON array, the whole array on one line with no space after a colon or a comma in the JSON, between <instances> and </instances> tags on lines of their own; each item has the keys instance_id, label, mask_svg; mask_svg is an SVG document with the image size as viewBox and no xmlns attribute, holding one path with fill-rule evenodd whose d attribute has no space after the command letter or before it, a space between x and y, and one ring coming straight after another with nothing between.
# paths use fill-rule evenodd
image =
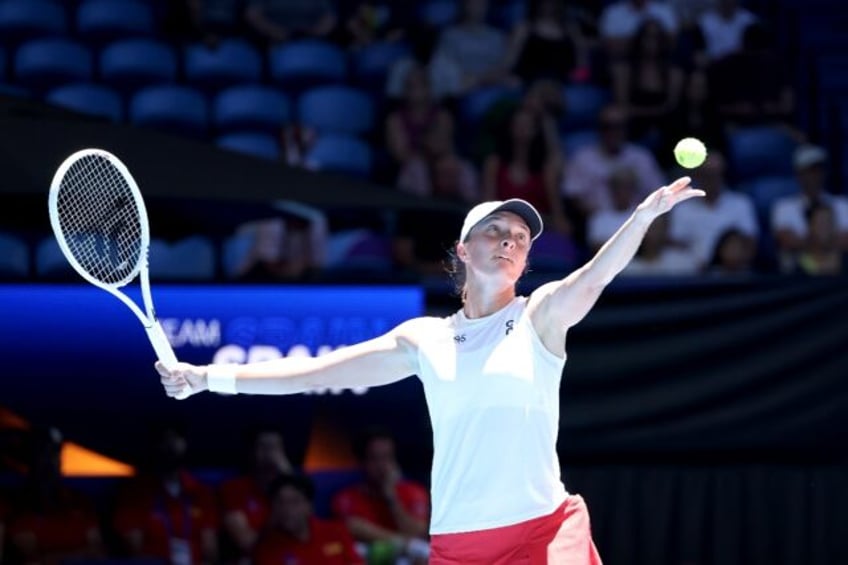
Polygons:
<instances>
[{"instance_id":1,"label":"spectator in light shirt at top edge, left of another white-shirted one","mask_svg":"<svg viewBox=\"0 0 848 565\"><path fill-rule=\"evenodd\" d=\"M666 33L676 38L679 24L674 9L656 0L617 0L604 8L600 34L604 50L614 61L627 54L630 40L648 19L657 20Z\"/></svg>"}]
</instances>

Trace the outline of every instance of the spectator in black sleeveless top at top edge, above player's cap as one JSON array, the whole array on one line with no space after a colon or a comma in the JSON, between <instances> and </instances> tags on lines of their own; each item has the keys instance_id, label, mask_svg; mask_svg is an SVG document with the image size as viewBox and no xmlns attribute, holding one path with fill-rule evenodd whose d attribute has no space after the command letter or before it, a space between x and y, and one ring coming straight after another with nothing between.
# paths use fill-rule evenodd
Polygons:
<instances>
[{"instance_id":1,"label":"spectator in black sleeveless top at top edge, above player's cap","mask_svg":"<svg viewBox=\"0 0 848 565\"><path fill-rule=\"evenodd\" d=\"M563 0L530 2L527 20L513 30L506 68L525 85L538 79L589 79L586 39L567 18Z\"/></svg>"}]
</instances>

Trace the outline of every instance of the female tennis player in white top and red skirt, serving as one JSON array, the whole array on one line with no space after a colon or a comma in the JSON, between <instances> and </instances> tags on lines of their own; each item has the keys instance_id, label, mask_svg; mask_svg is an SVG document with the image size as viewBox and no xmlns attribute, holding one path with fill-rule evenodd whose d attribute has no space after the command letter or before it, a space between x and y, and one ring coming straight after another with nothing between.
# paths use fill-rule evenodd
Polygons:
<instances>
[{"instance_id":1,"label":"female tennis player in white top and red skirt, serving","mask_svg":"<svg viewBox=\"0 0 848 565\"><path fill-rule=\"evenodd\" d=\"M389 384L417 375L433 426L430 563L601 563L589 515L560 478L556 453L565 337L630 261L651 222L701 190L682 177L651 193L584 266L516 296L542 232L523 200L484 202L456 244L462 308L420 317L315 358L173 370L157 364L176 397L193 393L295 394Z\"/></svg>"}]
</instances>

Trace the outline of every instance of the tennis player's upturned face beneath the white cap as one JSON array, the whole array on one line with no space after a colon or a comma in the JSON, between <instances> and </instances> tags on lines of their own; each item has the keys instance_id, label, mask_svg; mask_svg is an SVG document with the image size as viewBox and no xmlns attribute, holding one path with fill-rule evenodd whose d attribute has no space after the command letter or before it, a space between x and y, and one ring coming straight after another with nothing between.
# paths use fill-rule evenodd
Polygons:
<instances>
[{"instance_id":1,"label":"tennis player's upturned face beneath the white cap","mask_svg":"<svg viewBox=\"0 0 848 565\"><path fill-rule=\"evenodd\" d=\"M512 212L497 212L477 224L463 244L469 272L521 278L530 252L530 228Z\"/></svg>"}]
</instances>

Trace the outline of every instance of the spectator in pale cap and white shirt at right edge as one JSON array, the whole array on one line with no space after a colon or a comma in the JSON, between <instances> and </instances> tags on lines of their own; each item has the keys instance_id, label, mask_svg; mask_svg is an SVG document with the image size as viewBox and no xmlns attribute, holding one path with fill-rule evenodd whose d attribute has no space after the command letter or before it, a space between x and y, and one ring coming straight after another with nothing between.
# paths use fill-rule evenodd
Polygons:
<instances>
[{"instance_id":1,"label":"spectator in pale cap and white shirt at right edge","mask_svg":"<svg viewBox=\"0 0 848 565\"><path fill-rule=\"evenodd\" d=\"M848 251L848 199L828 192L827 162L823 148L811 144L800 146L795 151L794 166L801 190L778 199L772 206L771 230L783 270L791 270L793 257L803 249L810 227L807 211L817 205L832 209L839 247Z\"/></svg>"}]
</instances>

